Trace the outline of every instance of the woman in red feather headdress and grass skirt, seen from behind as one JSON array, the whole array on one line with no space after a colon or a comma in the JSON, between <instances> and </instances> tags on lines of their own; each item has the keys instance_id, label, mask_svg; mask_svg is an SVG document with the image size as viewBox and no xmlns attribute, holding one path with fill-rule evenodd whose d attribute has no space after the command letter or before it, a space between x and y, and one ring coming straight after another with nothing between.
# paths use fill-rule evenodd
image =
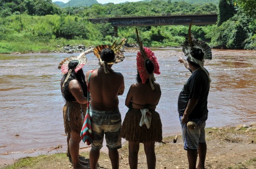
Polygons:
<instances>
[{"instance_id":1,"label":"woman in red feather headdress and grass skirt, seen from behind","mask_svg":"<svg viewBox=\"0 0 256 169\"><path fill-rule=\"evenodd\" d=\"M155 142L162 141L162 123L156 108L161 97L155 74L160 74L155 54L143 47L136 29L140 51L137 53L137 82L130 86L125 105L129 108L121 136L129 141L130 168L138 167L140 143L144 144L148 168L156 167Z\"/></svg>"}]
</instances>

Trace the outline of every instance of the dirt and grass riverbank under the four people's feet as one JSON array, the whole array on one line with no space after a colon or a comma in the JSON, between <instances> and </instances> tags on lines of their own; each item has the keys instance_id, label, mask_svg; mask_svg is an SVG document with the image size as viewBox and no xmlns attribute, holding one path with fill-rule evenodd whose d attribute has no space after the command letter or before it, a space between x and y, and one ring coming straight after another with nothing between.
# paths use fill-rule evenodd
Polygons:
<instances>
[{"instance_id":1,"label":"dirt and grass riverbank under the four people's feet","mask_svg":"<svg viewBox=\"0 0 256 169\"><path fill-rule=\"evenodd\" d=\"M206 168L256 168L256 123L252 126L237 125L206 130ZM187 168L186 152L183 150L181 135L164 137L156 143L156 168ZM120 168L129 168L128 144L120 153ZM89 151L80 150L81 159L89 162ZM1 168L72 168L71 160L64 153L27 157L13 161L14 164L0 164ZM89 168L89 165L87 166ZM108 154L101 152L98 168L111 168ZM147 168L143 144L140 146L138 168Z\"/></svg>"}]
</instances>

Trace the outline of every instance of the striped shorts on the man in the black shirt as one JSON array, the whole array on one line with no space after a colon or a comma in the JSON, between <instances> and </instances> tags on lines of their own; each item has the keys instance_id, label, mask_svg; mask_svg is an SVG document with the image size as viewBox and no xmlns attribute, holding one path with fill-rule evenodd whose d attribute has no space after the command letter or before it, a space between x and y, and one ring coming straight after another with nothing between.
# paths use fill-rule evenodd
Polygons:
<instances>
[{"instance_id":1,"label":"striped shorts on the man in the black shirt","mask_svg":"<svg viewBox=\"0 0 256 169\"><path fill-rule=\"evenodd\" d=\"M180 116L179 119L181 123L184 150L197 150L198 143L206 142L206 131L204 130L204 128L206 127L206 121L197 123L196 129L190 130L190 129L187 129L186 125L182 124L181 118L182 116ZM190 120L190 121L194 121L194 120Z\"/></svg>"}]
</instances>

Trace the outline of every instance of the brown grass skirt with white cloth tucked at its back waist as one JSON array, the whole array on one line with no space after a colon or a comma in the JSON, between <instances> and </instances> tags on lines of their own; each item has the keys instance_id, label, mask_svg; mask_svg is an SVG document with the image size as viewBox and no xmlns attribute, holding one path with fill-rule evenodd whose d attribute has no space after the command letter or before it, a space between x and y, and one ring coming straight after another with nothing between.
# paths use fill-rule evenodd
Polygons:
<instances>
[{"instance_id":1,"label":"brown grass skirt with white cloth tucked at its back waist","mask_svg":"<svg viewBox=\"0 0 256 169\"><path fill-rule=\"evenodd\" d=\"M161 142L163 139L162 136L162 122L155 110L149 110L151 113L151 125L150 128L147 129L147 126L143 124L140 126L141 121L141 110L140 109L131 109L126 115L122 124L121 129L121 137L125 138L128 141L133 142L148 142L148 141L156 141Z\"/></svg>"}]
</instances>

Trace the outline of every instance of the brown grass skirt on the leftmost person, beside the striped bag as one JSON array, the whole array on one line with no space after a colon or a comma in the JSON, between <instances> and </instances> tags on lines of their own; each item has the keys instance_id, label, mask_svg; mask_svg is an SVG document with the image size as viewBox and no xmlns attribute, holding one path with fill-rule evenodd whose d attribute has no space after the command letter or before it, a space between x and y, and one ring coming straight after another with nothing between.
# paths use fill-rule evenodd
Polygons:
<instances>
[{"instance_id":1,"label":"brown grass skirt on the leftmost person, beside the striped bag","mask_svg":"<svg viewBox=\"0 0 256 169\"><path fill-rule=\"evenodd\" d=\"M86 116L87 104L79 104L73 102L66 102L63 107L63 119L65 133L74 131L76 133L81 132L83 119L81 116L81 109L83 111L83 118ZM69 113L67 111L69 110ZM69 116L69 117L68 117Z\"/></svg>"}]
</instances>

